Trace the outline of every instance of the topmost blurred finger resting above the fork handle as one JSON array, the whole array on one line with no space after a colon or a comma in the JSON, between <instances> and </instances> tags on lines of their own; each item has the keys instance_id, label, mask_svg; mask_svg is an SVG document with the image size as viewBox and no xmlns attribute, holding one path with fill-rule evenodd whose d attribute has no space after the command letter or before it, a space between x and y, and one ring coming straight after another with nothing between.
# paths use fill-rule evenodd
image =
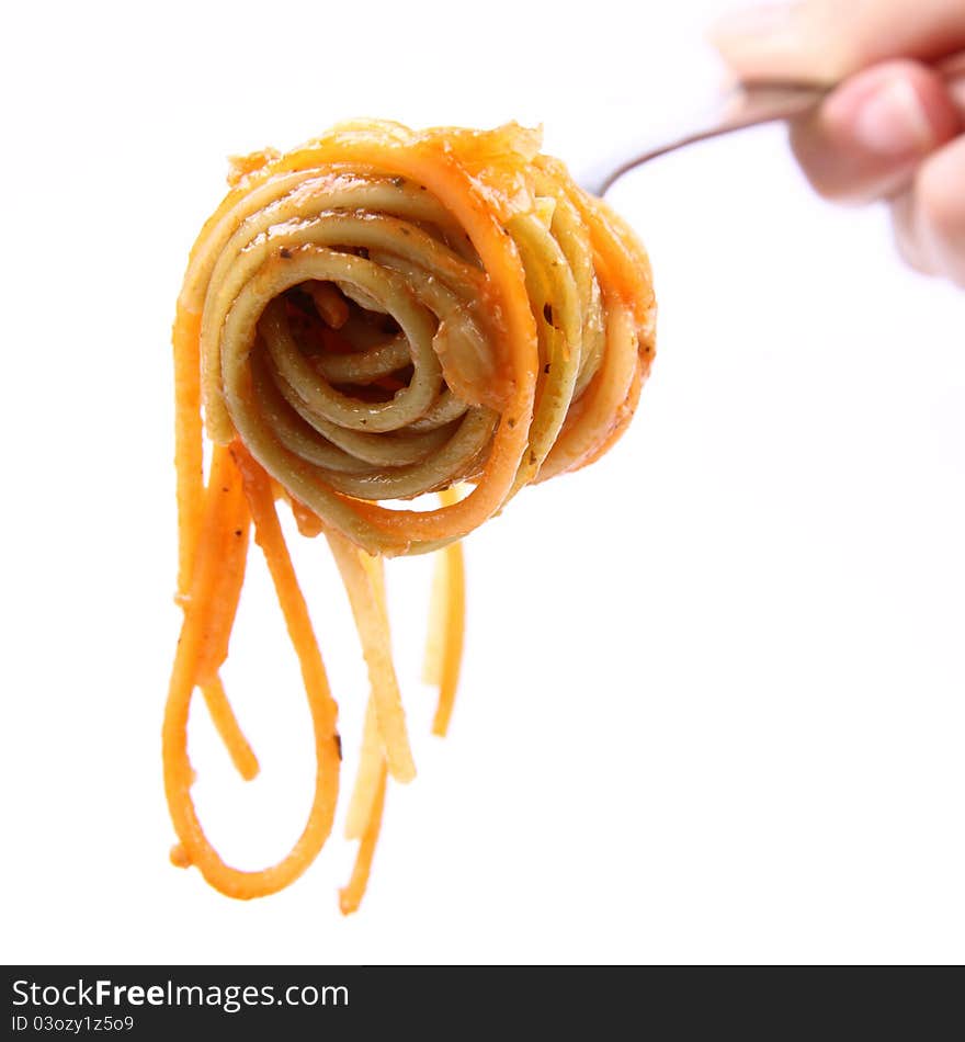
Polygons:
<instances>
[{"instance_id":1,"label":"topmost blurred finger resting above the fork handle","mask_svg":"<svg viewBox=\"0 0 965 1042\"><path fill-rule=\"evenodd\" d=\"M739 11L711 42L741 80L833 83L889 58L934 60L965 47L963 0L802 0Z\"/></svg>"}]
</instances>

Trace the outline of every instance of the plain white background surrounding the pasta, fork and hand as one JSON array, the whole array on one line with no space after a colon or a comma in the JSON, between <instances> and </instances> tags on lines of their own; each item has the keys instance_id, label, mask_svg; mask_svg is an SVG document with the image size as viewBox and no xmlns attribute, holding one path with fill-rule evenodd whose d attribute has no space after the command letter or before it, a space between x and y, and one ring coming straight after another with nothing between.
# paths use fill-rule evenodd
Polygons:
<instances>
[{"instance_id":1,"label":"plain white background surrounding the pasta, fork and hand","mask_svg":"<svg viewBox=\"0 0 965 1042\"><path fill-rule=\"evenodd\" d=\"M613 191L652 257L658 361L605 460L468 541L445 743L418 682L428 565L390 568L420 774L389 793L362 910L337 911L341 835L249 904L167 860L168 335L225 157L353 115L514 117L579 169L713 92L725 5L8 12L5 961L965 959L965 296L900 267L884 214L816 200L781 128ZM297 550L351 768L361 654L323 545ZM203 712L192 738L243 867L310 795L263 570L228 669L263 777L231 778Z\"/></svg>"}]
</instances>

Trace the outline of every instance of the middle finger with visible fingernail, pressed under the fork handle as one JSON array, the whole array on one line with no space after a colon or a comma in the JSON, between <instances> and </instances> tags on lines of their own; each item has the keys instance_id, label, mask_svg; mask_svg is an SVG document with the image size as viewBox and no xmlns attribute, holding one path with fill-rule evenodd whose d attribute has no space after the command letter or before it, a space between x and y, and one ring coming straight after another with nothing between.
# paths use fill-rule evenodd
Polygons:
<instances>
[{"instance_id":1,"label":"middle finger with visible fingernail, pressed under the fork handle","mask_svg":"<svg viewBox=\"0 0 965 1042\"><path fill-rule=\"evenodd\" d=\"M797 121L791 144L821 195L863 203L900 192L962 124L938 73L915 61L886 61L845 80Z\"/></svg>"}]
</instances>

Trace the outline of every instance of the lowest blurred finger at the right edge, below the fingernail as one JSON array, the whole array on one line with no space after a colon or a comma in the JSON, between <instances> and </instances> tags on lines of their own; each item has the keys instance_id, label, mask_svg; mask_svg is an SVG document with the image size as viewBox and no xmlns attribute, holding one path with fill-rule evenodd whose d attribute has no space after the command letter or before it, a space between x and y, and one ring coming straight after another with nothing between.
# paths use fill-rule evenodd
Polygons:
<instances>
[{"instance_id":1,"label":"lowest blurred finger at the right edge, below the fingernail","mask_svg":"<svg viewBox=\"0 0 965 1042\"><path fill-rule=\"evenodd\" d=\"M921 165L893 216L899 249L916 268L965 286L965 137Z\"/></svg>"}]
</instances>

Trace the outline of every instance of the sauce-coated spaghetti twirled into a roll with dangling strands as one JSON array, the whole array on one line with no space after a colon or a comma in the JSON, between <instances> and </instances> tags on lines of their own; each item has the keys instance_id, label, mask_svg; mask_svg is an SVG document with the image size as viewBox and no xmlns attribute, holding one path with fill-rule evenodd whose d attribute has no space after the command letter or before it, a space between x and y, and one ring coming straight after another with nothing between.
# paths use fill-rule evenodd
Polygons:
<instances>
[{"instance_id":1,"label":"sauce-coated spaghetti twirled into a roll with dangling strands","mask_svg":"<svg viewBox=\"0 0 965 1042\"><path fill-rule=\"evenodd\" d=\"M364 893L388 778L415 764L391 662L383 558L442 551L427 680L444 734L459 671L458 540L523 486L595 460L634 411L654 353L647 257L535 132L343 124L238 160L191 254L174 324L179 600L163 727L172 861L223 893L273 893L327 839L342 750L308 610L276 513L325 533L371 681L347 833L342 910ZM202 421L204 417L204 424ZM213 443L207 477L204 432ZM425 510L386 500L438 492ZM188 716L201 691L242 777L258 763L219 670L249 531L264 553L311 711L316 794L295 847L225 863L191 799Z\"/></svg>"}]
</instances>

